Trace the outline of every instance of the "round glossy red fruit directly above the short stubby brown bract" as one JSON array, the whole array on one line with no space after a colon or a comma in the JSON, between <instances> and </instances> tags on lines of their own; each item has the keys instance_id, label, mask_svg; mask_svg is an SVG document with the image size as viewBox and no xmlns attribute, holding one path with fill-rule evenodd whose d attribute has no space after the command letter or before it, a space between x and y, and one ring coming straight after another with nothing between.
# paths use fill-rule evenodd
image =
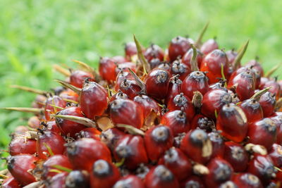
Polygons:
<instances>
[{"instance_id":1,"label":"round glossy red fruit directly above the short stubby brown bract","mask_svg":"<svg viewBox=\"0 0 282 188\"><path fill-rule=\"evenodd\" d=\"M181 91L189 99L192 99L194 92L198 91L202 95L209 91L208 78L200 71L194 71L188 75L181 85Z\"/></svg>"}]
</instances>

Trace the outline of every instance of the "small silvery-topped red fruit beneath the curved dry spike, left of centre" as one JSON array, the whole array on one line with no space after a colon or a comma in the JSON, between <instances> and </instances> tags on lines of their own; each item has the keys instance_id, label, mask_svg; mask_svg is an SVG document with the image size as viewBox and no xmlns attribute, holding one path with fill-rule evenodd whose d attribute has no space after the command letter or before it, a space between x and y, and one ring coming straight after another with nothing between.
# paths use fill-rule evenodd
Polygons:
<instances>
[{"instance_id":1,"label":"small silvery-topped red fruit beneath the curved dry spike, left of centre","mask_svg":"<svg viewBox=\"0 0 282 188\"><path fill-rule=\"evenodd\" d=\"M125 93L129 99L133 99L141 91L140 86L135 80L123 80L119 86L121 92Z\"/></svg>"}]
</instances>

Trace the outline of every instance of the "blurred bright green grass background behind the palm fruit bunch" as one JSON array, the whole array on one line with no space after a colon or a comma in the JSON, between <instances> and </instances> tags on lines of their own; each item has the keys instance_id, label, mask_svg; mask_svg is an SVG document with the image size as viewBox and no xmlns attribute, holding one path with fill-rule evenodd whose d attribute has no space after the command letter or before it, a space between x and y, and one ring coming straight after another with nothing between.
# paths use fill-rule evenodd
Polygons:
<instances>
[{"instance_id":1,"label":"blurred bright green grass background behind the palm fruit bunch","mask_svg":"<svg viewBox=\"0 0 282 188\"><path fill-rule=\"evenodd\" d=\"M73 66L75 58L97 67L99 56L123 54L123 43L133 33L144 46L154 42L165 48L177 35L196 39L208 20L204 40L216 36L228 50L250 39L243 61L259 56L268 70L281 63L281 7L282 1L274 0L1 0L0 107L30 106L35 97L11 84L57 86L52 80L63 77L54 73L53 63ZM29 116L0 111L1 148Z\"/></svg>"}]
</instances>

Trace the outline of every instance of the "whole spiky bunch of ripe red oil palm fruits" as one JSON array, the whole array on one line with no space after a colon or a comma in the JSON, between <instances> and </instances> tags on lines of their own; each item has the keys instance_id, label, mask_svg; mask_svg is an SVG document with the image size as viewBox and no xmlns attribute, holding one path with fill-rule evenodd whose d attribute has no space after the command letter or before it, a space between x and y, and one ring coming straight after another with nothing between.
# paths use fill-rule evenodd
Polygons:
<instances>
[{"instance_id":1,"label":"whole spiky bunch of ripe red oil palm fruits","mask_svg":"<svg viewBox=\"0 0 282 188\"><path fill-rule=\"evenodd\" d=\"M135 39L101 58L99 75L75 61L63 87L35 92L37 113L9 144L3 187L279 187L281 87L248 42L223 51L185 37L163 51ZM4 170L5 171L5 170Z\"/></svg>"}]
</instances>

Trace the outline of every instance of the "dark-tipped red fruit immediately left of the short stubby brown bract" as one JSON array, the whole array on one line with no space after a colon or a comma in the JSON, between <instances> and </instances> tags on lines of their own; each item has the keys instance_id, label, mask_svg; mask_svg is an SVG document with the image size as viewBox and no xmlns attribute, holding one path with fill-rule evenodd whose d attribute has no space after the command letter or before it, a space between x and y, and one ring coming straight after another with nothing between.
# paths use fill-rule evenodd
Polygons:
<instances>
[{"instance_id":1,"label":"dark-tipped red fruit immediately left of the short stubby brown bract","mask_svg":"<svg viewBox=\"0 0 282 188\"><path fill-rule=\"evenodd\" d=\"M192 104L192 101L185 96L183 93L180 93L171 100L168 101L167 108L169 111L176 111L183 108L183 111L186 113L187 119L190 121L195 115L195 108Z\"/></svg>"}]
</instances>

